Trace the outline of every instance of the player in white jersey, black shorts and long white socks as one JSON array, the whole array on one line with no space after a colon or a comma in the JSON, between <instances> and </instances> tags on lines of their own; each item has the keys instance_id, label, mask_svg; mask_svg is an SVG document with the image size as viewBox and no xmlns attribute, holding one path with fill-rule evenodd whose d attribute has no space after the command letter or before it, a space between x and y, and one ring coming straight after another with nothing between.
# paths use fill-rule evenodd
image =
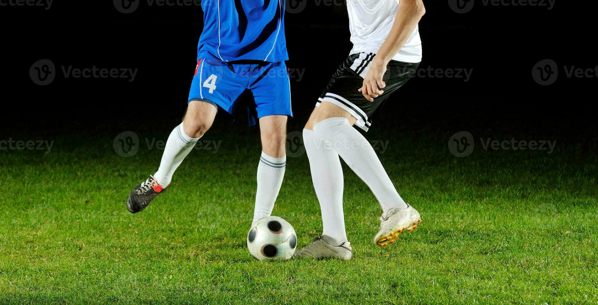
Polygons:
<instances>
[{"instance_id":1,"label":"player in white jersey, black shorts and long white socks","mask_svg":"<svg viewBox=\"0 0 598 305\"><path fill-rule=\"evenodd\" d=\"M394 244L398 234L422 219L405 203L376 152L353 125L367 131L371 117L390 95L414 75L422 60L417 23L422 0L347 0L353 49L332 75L304 130L313 186L320 202L324 233L295 257L350 260L343 215L340 158L370 187L380 205L380 230L374 243ZM398 103L399 98L389 103Z\"/></svg>"}]
</instances>

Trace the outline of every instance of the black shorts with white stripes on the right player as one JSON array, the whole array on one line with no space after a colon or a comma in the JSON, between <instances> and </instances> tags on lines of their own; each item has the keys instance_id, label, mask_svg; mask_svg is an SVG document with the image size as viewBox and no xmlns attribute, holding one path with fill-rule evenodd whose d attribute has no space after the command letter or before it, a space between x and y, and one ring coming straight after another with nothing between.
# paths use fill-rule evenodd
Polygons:
<instances>
[{"instance_id":1,"label":"black shorts with white stripes on the right player","mask_svg":"<svg viewBox=\"0 0 598 305\"><path fill-rule=\"evenodd\" d=\"M374 59L374 53L351 54L338 66L328 86L318 98L316 106L322 101L329 101L344 110L347 110L357 121L355 125L362 130L368 131L371 125L371 118L380 109L382 104L390 97L390 94L401 88L413 75L415 75L419 63L405 63L403 61L391 60L386 66L386 73L383 81L386 83L384 93L374 98L374 101L365 99L361 92L357 91L364 83L364 77L370 70L370 63Z\"/></svg>"}]
</instances>

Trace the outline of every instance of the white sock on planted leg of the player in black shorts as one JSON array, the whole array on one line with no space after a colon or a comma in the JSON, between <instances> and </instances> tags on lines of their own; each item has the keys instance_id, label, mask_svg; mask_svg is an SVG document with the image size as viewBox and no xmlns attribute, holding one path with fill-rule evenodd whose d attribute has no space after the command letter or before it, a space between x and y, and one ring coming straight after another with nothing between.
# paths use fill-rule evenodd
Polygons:
<instances>
[{"instance_id":1,"label":"white sock on planted leg of the player in black shorts","mask_svg":"<svg viewBox=\"0 0 598 305\"><path fill-rule=\"evenodd\" d=\"M328 144L328 145L327 145ZM316 189L324 233L334 245L347 241L343 215L343 168L338 153L312 130L303 130L303 145L309 158L313 187Z\"/></svg>"}]
</instances>

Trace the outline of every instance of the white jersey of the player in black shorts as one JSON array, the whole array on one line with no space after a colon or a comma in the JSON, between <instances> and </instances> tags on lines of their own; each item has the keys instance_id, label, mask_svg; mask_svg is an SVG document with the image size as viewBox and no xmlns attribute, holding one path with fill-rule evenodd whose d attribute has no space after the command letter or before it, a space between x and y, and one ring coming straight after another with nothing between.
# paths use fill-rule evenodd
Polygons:
<instances>
[{"instance_id":1,"label":"white jersey of the player in black shorts","mask_svg":"<svg viewBox=\"0 0 598 305\"><path fill-rule=\"evenodd\" d=\"M347 0L349 29L353 49L350 54L378 53L388 37L399 10L399 0ZM422 61L422 40L418 27L393 60L407 63Z\"/></svg>"}]
</instances>

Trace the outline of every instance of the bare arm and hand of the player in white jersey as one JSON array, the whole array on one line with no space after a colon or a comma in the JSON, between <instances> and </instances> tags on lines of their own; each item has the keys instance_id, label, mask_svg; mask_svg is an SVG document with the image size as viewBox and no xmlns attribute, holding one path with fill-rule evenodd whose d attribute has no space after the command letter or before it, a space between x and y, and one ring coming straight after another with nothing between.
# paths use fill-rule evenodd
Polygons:
<instances>
[{"instance_id":1,"label":"bare arm and hand of the player in white jersey","mask_svg":"<svg viewBox=\"0 0 598 305\"><path fill-rule=\"evenodd\" d=\"M405 45L425 13L426 9L423 7L422 0L401 0L395 23L390 29L388 38L376 53L376 57L371 62L370 70L365 75L364 84L359 88L359 92L368 101L374 101L374 97L384 93L384 90L380 89L386 87L385 82L382 81L382 76L386 72L386 65Z\"/></svg>"}]
</instances>

